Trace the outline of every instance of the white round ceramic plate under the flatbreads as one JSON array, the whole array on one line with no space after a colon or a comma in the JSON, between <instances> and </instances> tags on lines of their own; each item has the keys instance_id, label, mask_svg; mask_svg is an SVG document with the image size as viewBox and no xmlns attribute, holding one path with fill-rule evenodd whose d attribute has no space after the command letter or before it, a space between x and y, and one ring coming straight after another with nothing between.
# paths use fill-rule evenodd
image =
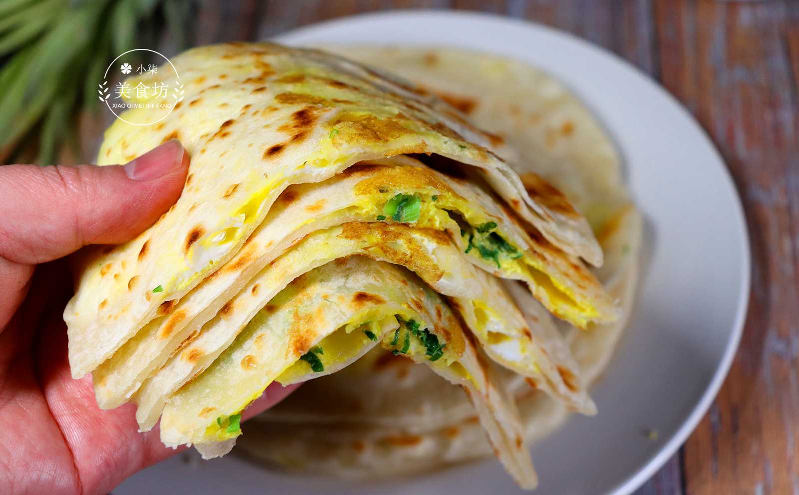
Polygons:
<instances>
[{"instance_id":1,"label":"white round ceramic plate under the flatbreads","mask_svg":"<svg viewBox=\"0 0 799 495\"><path fill-rule=\"evenodd\" d=\"M324 42L460 46L518 58L570 86L610 131L646 218L630 328L593 390L599 414L572 417L533 458L545 493L630 493L678 449L718 392L743 326L749 241L724 162L666 91L613 54L544 26L483 14L389 12L294 30ZM658 432L651 440L642 432ZM490 460L411 481L357 484L269 473L229 456L178 456L115 493L518 493Z\"/></svg>"}]
</instances>

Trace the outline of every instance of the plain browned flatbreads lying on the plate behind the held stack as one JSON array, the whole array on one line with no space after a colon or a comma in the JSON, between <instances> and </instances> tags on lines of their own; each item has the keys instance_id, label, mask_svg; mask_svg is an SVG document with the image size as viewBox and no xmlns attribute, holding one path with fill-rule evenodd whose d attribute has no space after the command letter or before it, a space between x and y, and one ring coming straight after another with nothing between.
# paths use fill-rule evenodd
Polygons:
<instances>
[{"instance_id":1,"label":"plain browned flatbreads lying on the plate behind the held stack","mask_svg":"<svg viewBox=\"0 0 799 495\"><path fill-rule=\"evenodd\" d=\"M618 321L590 325L587 330L560 326L584 385L597 381L634 306L642 218L622 182L618 151L590 110L542 70L491 54L439 48L331 49L396 71L457 107L495 134L498 142L519 150L519 156L535 156L535 163L511 161L511 166L531 185L539 175L547 178L586 214L605 253L605 264L594 272L618 301L621 313ZM372 372L364 373L364 367ZM516 397L529 441L546 436L565 421L569 413L565 405L536 392L524 377L510 372L502 376ZM406 394L402 400L380 395L390 383L418 393L412 399ZM474 413L466 401L445 389L446 383L427 369L407 369L380 351L307 386L283 405L254 418L239 452L271 466L276 462L285 469L348 477L419 473L491 454L491 447L474 427ZM308 395L315 396L315 404L329 407L314 409L318 414L305 408L299 421L289 421L292 413L307 404ZM443 400L435 401L435 397ZM401 417L411 421L402 422ZM396 429L387 429L392 421L400 422L395 423ZM328 437L331 425L336 425L338 433Z\"/></svg>"}]
</instances>

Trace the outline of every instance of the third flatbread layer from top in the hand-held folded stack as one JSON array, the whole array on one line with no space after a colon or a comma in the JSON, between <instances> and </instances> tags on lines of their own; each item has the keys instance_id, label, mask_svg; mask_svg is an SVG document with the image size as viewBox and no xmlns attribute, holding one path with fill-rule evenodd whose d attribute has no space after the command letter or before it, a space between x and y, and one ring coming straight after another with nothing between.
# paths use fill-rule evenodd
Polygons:
<instances>
[{"instance_id":1,"label":"third flatbread layer from top in the hand-held folded stack","mask_svg":"<svg viewBox=\"0 0 799 495\"><path fill-rule=\"evenodd\" d=\"M531 314L526 309L523 315L499 280L467 261L467 255L443 232L401 223L348 222L308 234L262 269L217 317L149 377L133 398L141 429L152 428L168 397L211 365L248 321L290 281L317 266L352 255L403 265L415 272L450 298L450 305L494 361L529 377L537 387L574 409L595 412L562 337L535 300L530 298L538 313ZM355 345L349 349L347 356L344 351L340 355L342 365L355 361L366 350ZM305 378L308 377L286 375L278 381L288 385Z\"/></svg>"}]
</instances>

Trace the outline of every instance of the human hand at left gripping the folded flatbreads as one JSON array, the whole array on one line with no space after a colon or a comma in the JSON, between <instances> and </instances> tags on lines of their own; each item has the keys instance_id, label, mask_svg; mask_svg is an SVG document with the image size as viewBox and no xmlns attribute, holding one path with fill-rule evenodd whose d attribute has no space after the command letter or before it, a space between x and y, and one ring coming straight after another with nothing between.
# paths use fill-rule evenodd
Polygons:
<instances>
[{"instance_id":1,"label":"human hand at left gripping the folded flatbreads","mask_svg":"<svg viewBox=\"0 0 799 495\"><path fill-rule=\"evenodd\" d=\"M125 166L0 167L0 487L3 493L107 493L177 452L135 406L101 410L90 375L70 377L58 258L128 241L181 195L189 157L166 142ZM35 272L35 273L34 273ZM271 385L251 417L293 388Z\"/></svg>"}]
</instances>

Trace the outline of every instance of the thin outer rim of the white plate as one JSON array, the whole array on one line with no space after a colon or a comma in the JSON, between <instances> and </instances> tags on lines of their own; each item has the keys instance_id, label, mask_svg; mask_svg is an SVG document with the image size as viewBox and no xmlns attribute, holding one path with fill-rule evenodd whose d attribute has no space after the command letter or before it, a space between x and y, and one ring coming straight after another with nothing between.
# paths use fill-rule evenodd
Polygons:
<instances>
[{"instance_id":1,"label":"thin outer rim of the white plate","mask_svg":"<svg viewBox=\"0 0 799 495\"><path fill-rule=\"evenodd\" d=\"M694 430L697 428L699 421L702 421L702 417L705 416L708 409L710 409L710 405L718 396L719 391L721 390L721 385L723 385L727 374L729 373L729 369L733 364L734 357L737 353L737 349L741 343L741 336L743 334L744 326L746 317L749 311L749 298L751 292L751 271L752 271L752 259L751 259L751 249L750 249L750 240L749 240L749 228L746 222L745 217L745 210L743 207L743 203L741 202L741 195L735 185L733 180L733 176L729 170L729 166L727 166L727 162L725 161L723 155L719 152L718 147L716 146L713 138L710 137L708 132L705 130L704 127L694 118L694 115L691 114L686 107L674 96L671 94L669 90L666 90L662 84L652 78L649 74L646 74L642 70L640 70L637 66L634 66L630 61L626 58L622 58L620 55L615 54L613 51L607 50L602 46L595 45L592 42L587 41L584 38L580 38L575 34L571 34L568 31L560 30L558 28L547 26L539 22L535 22L532 20L528 20L526 18L515 18L510 17L503 14L494 14L494 13L486 13L486 12L479 12L479 11L464 11L464 10L444 10L444 9L400 9L400 10L380 10L376 12L367 12L367 13L360 13L360 14L352 14L348 16L343 16L340 18L332 18L321 22L314 22L309 24L308 26L300 26L296 27L292 30L285 31L284 33L276 34L269 38L270 40L276 42L284 42L288 45L296 45L296 42L292 42L292 38L300 38L303 36L308 36L312 34L314 31L317 30L324 30L331 27L339 27L345 26L352 22L380 22L384 18L392 18L392 20L396 21L397 17L404 17L407 20L412 21L414 18L453 18L457 22L463 22L465 24L471 24L474 22L485 22L485 23L492 23L497 26L499 25L512 25L516 27L521 27L523 29L528 30L540 30L547 36L551 36L554 38L559 38L564 42L570 42L577 44L583 49L589 50L592 54L610 59L610 62L616 62L616 64L621 69L626 69L633 75L635 78L638 78L641 84L650 86L652 89L656 90L661 96L665 96L666 100L670 102L671 106L677 108L678 112L682 114L682 117L686 118L686 121L690 122L690 126L693 127L693 130L702 137L702 140L706 142L706 145L709 146L710 150L712 150L715 157L718 159L719 164L721 165L721 175L724 178L726 187L726 192L731 194L733 200L733 221L737 224L738 227L738 234L739 234L739 249L741 249L741 280L738 285L738 294L737 294L737 309L735 313L735 318L733 321L733 325L731 327L731 331L729 333L729 338L725 343L724 352L721 354L721 359L718 361L716 368L713 373L713 377L710 380L710 383L706 386L706 389L702 393L702 397L700 400L694 405L693 409L690 410L687 417L682 421L682 425L672 433L670 439L664 443L660 449L658 449L655 453L653 453L649 458L646 459L634 471L631 471L630 474L620 481L614 488L610 489L608 493L613 493L614 495L627 495L634 491L634 489L638 489L641 485L646 483L654 475L654 473L660 469L663 465L666 464L666 461L670 459L674 455L674 453L686 442L688 437ZM409 43L407 46L420 46L422 43ZM400 45L396 45L400 46ZM458 44L452 43L451 46L457 47ZM491 50L485 50L487 53L496 53L492 52ZM507 56L507 54L499 54ZM523 62L529 63L529 62ZM547 70L546 66L540 67L543 70ZM587 102L590 104L590 102ZM602 115L597 115L600 122L602 121ZM610 129L607 129L608 133L610 134L611 138L614 138L613 134L610 132ZM618 145L617 145L618 146ZM716 166L716 164L712 164L709 166ZM639 289L640 290L640 289ZM615 351L614 351L615 352Z\"/></svg>"}]
</instances>

